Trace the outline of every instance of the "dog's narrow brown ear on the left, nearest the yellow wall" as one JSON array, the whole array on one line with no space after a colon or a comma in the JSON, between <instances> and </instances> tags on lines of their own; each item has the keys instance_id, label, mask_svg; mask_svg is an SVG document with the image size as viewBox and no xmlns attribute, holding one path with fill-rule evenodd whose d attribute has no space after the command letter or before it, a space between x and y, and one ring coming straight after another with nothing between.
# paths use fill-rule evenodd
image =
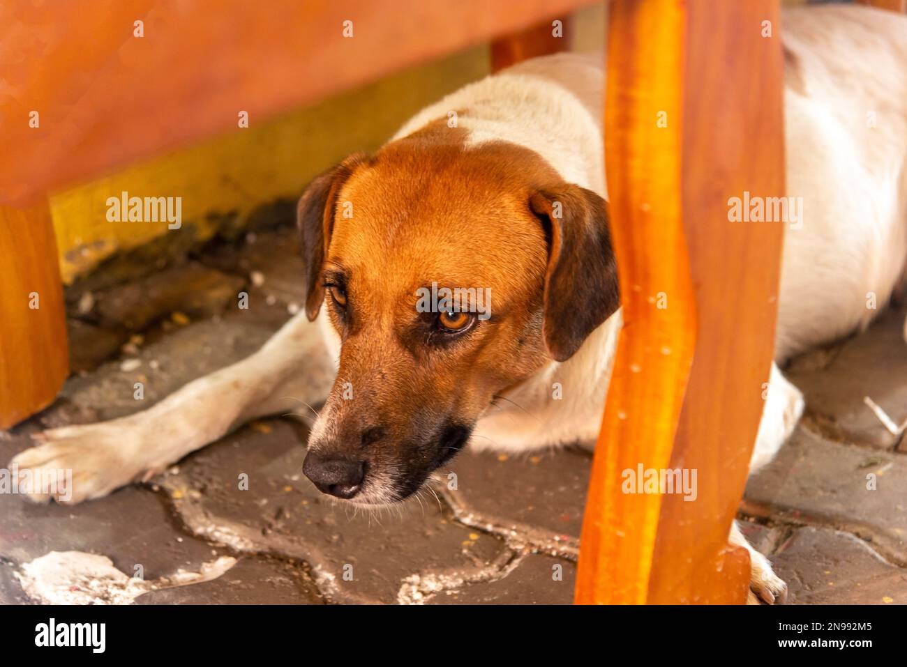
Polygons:
<instances>
[{"instance_id":1,"label":"dog's narrow brown ear on the left, nearest the yellow wall","mask_svg":"<svg viewBox=\"0 0 907 667\"><path fill-rule=\"evenodd\" d=\"M306 264L306 315L309 320L318 316L321 302L325 299L325 291L321 288L321 269L334 230L337 197L346 179L365 160L363 153L349 156L312 180L299 198L296 224L302 260Z\"/></svg>"}]
</instances>

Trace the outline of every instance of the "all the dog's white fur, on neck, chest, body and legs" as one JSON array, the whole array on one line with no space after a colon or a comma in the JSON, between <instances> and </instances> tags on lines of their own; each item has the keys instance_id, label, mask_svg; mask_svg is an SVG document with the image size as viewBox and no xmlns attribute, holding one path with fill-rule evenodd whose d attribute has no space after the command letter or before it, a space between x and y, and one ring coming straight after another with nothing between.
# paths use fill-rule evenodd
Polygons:
<instances>
[{"instance_id":1,"label":"all the dog's white fur, on neck, chest, body and legs","mask_svg":"<svg viewBox=\"0 0 907 667\"><path fill-rule=\"evenodd\" d=\"M786 232L776 362L865 326L876 312L866 307L868 293L883 307L907 257L907 18L845 6L792 10L784 18L792 56L785 89L787 194L804 198L805 220ZM598 58L535 59L454 92L396 136L458 111L460 127L470 133L467 145L520 144L563 179L607 197L601 90ZM867 127L870 112L874 128ZM549 363L510 392L519 408L504 402L489 409L471 447L525 451L593 443L619 326L618 313L570 360ZM324 317L320 327L336 360L336 333ZM123 420L46 431L44 444L14 460L22 468L73 469L72 502L102 496L216 440L241 420L293 408L289 397L323 398L327 385L313 387L302 372L327 363L311 343L313 330L305 314L297 314L248 360ZM582 393L554 400L554 382ZM800 392L773 364L753 469L772 459L802 411ZM326 428L324 421L313 433ZM386 492L378 487L364 489L369 499ZM736 527L730 540L750 550L754 593L766 602L783 597L784 582Z\"/></svg>"}]
</instances>

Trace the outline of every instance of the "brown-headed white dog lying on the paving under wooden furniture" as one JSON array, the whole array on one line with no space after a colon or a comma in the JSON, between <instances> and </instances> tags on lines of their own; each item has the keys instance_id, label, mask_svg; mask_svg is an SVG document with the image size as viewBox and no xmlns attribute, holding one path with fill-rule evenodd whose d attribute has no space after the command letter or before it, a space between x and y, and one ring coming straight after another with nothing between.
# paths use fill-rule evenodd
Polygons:
<instances>
[{"instance_id":1,"label":"brown-headed white dog lying on the paving under wooden furniture","mask_svg":"<svg viewBox=\"0 0 907 667\"><path fill-rule=\"evenodd\" d=\"M805 219L785 234L751 470L804 410L779 366L865 327L867 295L887 301L907 259L907 17L827 6L787 11L784 28L787 192ZM298 204L302 312L248 359L146 411L37 434L14 463L73 469L71 502L100 498L297 400L324 401L305 474L358 505L407 498L467 446L591 447L620 329L602 85L599 58L533 59L329 169ZM419 307L420 290L458 287L488 290L487 316ZM730 542L749 550L751 602L783 601L736 525Z\"/></svg>"}]
</instances>

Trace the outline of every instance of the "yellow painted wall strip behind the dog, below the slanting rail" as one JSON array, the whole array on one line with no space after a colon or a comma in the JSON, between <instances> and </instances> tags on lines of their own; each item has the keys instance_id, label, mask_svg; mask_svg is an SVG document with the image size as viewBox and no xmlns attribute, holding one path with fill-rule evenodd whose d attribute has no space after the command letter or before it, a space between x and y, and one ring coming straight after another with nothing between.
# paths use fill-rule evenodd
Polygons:
<instances>
[{"instance_id":1,"label":"yellow painted wall strip behind the dog, below the slanting rail","mask_svg":"<svg viewBox=\"0 0 907 667\"><path fill-rule=\"evenodd\" d=\"M482 78L489 66L487 47L458 53L277 119L249 118L248 128L240 128L238 118L237 129L227 135L55 193L50 207L63 282L71 284L114 253L165 234L189 234L194 243L213 236L225 221L241 227L256 208L297 198L347 154L374 150L415 111ZM107 200L122 192L182 198L181 227L109 221ZM179 245L186 240L180 237Z\"/></svg>"}]
</instances>

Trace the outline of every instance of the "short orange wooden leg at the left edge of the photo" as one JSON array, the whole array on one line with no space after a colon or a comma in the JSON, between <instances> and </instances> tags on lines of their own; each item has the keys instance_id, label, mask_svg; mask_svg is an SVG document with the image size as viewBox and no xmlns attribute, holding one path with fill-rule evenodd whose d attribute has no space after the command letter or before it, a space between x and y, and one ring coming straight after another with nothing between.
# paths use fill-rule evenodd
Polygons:
<instances>
[{"instance_id":1,"label":"short orange wooden leg at the left edge of the photo","mask_svg":"<svg viewBox=\"0 0 907 667\"><path fill-rule=\"evenodd\" d=\"M46 407L69 370L63 285L47 203L0 207L0 429Z\"/></svg>"}]
</instances>

